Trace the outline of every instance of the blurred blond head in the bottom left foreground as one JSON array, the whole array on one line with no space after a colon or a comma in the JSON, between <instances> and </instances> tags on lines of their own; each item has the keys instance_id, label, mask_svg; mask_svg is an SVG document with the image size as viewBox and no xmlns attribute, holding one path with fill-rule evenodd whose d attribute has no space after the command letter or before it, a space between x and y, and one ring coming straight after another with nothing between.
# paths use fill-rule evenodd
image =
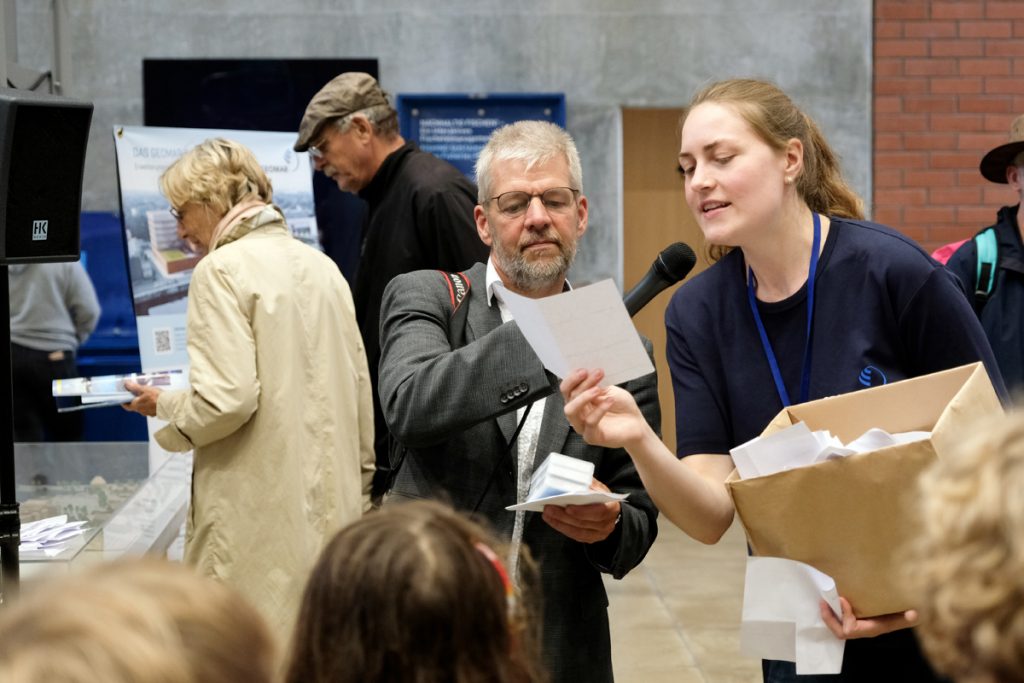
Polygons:
<instances>
[{"instance_id":1,"label":"blurred blond head in the bottom left foreground","mask_svg":"<svg viewBox=\"0 0 1024 683\"><path fill-rule=\"evenodd\" d=\"M156 558L43 580L0 609L0 681L270 683L275 643L242 596Z\"/></svg>"}]
</instances>

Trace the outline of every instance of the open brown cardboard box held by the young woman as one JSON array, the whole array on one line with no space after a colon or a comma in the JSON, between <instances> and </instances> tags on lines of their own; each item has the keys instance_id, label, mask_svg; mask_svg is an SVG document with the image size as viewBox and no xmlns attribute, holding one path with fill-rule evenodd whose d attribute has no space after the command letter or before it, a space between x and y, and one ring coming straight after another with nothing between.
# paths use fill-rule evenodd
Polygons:
<instances>
[{"instance_id":1,"label":"open brown cardboard box held by the young woman","mask_svg":"<svg viewBox=\"0 0 1024 683\"><path fill-rule=\"evenodd\" d=\"M912 608L899 563L918 529L918 476L972 422L1001 411L980 362L784 409L764 434L803 421L844 443L871 427L932 435L752 479L733 471L726 487L751 549L833 577L858 616Z\"/></svg>"}]
</instances>

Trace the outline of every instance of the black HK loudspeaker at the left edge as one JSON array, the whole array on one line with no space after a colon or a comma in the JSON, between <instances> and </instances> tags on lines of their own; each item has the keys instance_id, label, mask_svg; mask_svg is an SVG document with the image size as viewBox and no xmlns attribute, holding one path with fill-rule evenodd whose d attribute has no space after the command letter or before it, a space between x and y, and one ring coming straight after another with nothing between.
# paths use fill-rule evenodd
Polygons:
<instances>
[{"instance_id":1,"label":"black HK loudspeaker at the left edge","mask_svg":"<svg viewBox=\"0 0 1024 683\"><path fill-rule=\"evenodd\" d=\"M0 88L0 263L77 261L92 103Z\"/></svg>"}]
</instances>

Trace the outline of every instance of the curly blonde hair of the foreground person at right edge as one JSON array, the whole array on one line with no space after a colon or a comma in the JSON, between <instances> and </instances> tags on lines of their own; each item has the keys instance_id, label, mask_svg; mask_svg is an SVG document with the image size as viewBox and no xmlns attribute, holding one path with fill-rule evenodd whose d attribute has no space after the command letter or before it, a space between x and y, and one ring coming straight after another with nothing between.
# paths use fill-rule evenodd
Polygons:
<instances>
[{"instance_id":1,"label":"curly blonde hair of the foreground person at right edge","mask_svg":"<svg viewBox=\"0 0 1024 683\"><path fill-rule=\"evenodd\" d=\"M1024 681L1024 413L977 425L920 485L925 651L962 683Z\"/></svg>"}]
</instances>

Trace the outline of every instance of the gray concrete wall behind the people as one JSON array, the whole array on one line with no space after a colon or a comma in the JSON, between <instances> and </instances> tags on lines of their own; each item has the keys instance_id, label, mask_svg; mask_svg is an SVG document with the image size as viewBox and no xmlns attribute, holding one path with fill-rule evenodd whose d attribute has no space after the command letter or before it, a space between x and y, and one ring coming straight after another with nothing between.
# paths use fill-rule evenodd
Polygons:
<instances>
[{"instance_id":1,"label":"gray concrete wall behind the people","mask_svg":"<svg viewBox=\"0 0 1024 683\"><path fill-rule=\"evenodd\" d=\"M71 0L66 93L95 103L86 210L117 209L111 129L139 125L143 57L377 57L395 92L562 91L590 198L575 276L620 278L621 108L681 106L754 76L821 124L870 187L868 0ZM51 7L16 0L18 61L48 69ZM674 164L676 150L652 164ZM682 196L680 195L680 201Z\"/></svg>"}]
</instances>

